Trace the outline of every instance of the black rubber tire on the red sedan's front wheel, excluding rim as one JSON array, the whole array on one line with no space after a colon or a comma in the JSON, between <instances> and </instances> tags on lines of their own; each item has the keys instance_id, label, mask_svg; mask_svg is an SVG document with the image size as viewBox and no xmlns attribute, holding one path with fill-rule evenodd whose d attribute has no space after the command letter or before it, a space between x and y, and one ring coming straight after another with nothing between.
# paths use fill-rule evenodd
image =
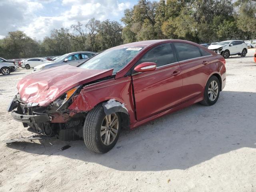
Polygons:
<instances>
[{"instance_id":1,"label":"black rubber tire on the red sedan's front wheel, excluding rim","mask_svg":"<svg viewBox=\"0 0 256 192\"><path fill-rule=\"evenodd\" d=\"M89 150L96 153L106 153L115 146L121 130L121 116L118 113L116 115L118 116L119 126L116 138L110 145L105 145L100 136L102 122L106 116L102 104L88 112L84 121L83 135L84 143Z\"/></svg>"}]
</instances>

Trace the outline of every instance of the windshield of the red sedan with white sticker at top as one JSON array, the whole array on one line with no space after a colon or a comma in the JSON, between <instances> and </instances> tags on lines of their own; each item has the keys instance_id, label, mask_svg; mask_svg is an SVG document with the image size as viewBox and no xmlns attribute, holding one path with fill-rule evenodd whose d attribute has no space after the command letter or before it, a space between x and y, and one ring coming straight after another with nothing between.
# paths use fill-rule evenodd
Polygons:
<instances>
[{"instance_id":1,"label":"windshield of the red sedan with white sticker at top","mask_svg":"<svg viewBox=\"0 0 256 192\"><path fill-rule=\"evenodd\" d=\"M132 58L134 58L143 48L130 47L121 49L108 49L100 54L92 57L90 60L84 62L81 68L85 69L112 69L113 74L120 71Z\"/></svg>"}]
</instances>

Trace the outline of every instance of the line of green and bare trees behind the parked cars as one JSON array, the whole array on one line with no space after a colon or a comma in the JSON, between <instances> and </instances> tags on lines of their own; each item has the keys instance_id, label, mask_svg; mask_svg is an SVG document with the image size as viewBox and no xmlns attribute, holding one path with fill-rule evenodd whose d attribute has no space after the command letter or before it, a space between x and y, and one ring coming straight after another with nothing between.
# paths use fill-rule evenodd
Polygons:
<instances>
[{"instance_id":1,"label":"line of green and bare trees behind the parked cars","mask_svg":"<svg viewBox=\"0 0 256 192\"><path fill-rule=\"evenodd\" d=\"M255 0L139 0L118 21L95 18L54 29L42 41L22 31L0 40L0 57L30 58L75 51L100 52L123 43L184 39L196 43L256 38Z\"/></svg>"}]
</instances>

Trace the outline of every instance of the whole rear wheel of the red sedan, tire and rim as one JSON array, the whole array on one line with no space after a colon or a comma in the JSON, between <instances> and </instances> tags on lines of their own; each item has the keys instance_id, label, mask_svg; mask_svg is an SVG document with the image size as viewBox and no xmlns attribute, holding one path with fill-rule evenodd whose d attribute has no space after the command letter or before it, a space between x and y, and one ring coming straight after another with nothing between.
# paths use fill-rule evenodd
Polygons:
<instances>
[{"instance_id":1,"label":"whole rear wheel of the red sedan, tire and rim","mask_svg":"<svg viewBox=\"0 0 256 192\"><path fill-rule=\"evenodd\" d=\"M203 105L214 105L220 95L220 81L216 76L211 76L204 89L204 100L200 103Z\"/></svg>"}]
</instances>

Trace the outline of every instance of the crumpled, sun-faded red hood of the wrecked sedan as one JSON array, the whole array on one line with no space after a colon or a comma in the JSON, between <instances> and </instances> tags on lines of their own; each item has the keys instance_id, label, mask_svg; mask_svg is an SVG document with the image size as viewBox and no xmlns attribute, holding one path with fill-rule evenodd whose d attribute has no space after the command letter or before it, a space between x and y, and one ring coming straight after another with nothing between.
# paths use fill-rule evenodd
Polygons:
<instances>
[{"instance_id":1,"label":"crumpled, sun-faded red hood of the wrecked sedan","mask_svg":"<svg viewBox=\"0 0 256 192\"><path fill-rule=\"evenodd\" d=\"M17 88L25 103L48 106L71 88L111 76L112 72L113 69L91 70L64 65L25 76Z\"/></svg>"}]
</instances>

